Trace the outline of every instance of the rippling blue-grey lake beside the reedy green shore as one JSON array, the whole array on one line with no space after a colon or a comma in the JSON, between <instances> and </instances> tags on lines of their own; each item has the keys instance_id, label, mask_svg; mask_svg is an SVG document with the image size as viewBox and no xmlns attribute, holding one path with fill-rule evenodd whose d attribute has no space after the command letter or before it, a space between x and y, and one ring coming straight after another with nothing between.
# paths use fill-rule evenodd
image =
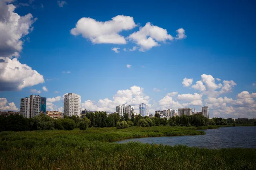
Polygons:
<instances>
[{"instance_id":1,"label":"rippling blue-grey lake beside the reedy green shore","mask_svg":"<svg viewBox=\"0 0 256 170\"><path fill-rule=\"evenodd\" d=\"M247 127L221 127L208 129L205 135L195 136L163 136L149 138L134 138L118 141L116 143L142 142L154 144L178 145L189 147L204 147L209 149L243 147L256 148L256 126Z\"/></svg>"}]
</instances>

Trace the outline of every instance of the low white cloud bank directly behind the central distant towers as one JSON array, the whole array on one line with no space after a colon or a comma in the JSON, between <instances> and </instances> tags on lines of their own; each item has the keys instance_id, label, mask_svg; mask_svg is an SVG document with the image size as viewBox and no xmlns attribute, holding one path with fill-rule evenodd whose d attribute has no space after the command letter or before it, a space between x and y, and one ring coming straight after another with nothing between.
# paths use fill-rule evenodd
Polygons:
<instances>
[{"instance_id":1,"label":"low white cloud bank directly behind the central distant towers","mask_svg":"<svg viewBox=\"0 0 256 170\"><path fill-rule=\"evenodd\" d=\"M128 103L133 105L135 112L138 112L138 107L140 103L148 103L149 96L143 94L143 88L138 86L132 86L127 90L119 90L111 99L99 99L98 102L87 100L81 104L82 108L86 108L93 111L115 111L117 105L122 105Z\"/></svg>"}]
</instances>

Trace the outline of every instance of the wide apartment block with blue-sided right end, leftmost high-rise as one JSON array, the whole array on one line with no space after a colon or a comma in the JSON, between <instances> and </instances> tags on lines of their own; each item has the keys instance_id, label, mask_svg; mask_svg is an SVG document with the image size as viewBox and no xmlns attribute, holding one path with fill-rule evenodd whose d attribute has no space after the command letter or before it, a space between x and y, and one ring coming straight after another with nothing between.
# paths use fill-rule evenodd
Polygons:
<instances>
[{"instance_id":1,"label":"wide apartment block with blue-sided right end, leftmost high-rise","mask_svg":"<svg viewBox=\"0 0 256 170\"><path fill-rule=\"evenodd\" d=\"M20 114L26 118L46 113L46 98L39 95L30 95L20 99Z\"/></svg>"}]
</instances>

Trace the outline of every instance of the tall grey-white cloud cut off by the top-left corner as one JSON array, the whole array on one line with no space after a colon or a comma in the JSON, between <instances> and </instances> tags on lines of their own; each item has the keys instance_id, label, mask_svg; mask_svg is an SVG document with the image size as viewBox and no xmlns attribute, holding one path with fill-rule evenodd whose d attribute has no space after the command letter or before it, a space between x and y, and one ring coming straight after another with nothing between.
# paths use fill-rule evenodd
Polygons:
<instances>
[{"instance_id":1,"label":"tall grey-white cloud cut off by the top-left corner","mask_svg":"<svg viewBox=\"0 0 256 170\"><path fill-rule=\"evenodd\" d=\"M21 38L29 34L36 20L30 13L18 15L15 8L13 4L0 1L0 57L19 56L23 45Z\"/></svg>"}]
</instances>

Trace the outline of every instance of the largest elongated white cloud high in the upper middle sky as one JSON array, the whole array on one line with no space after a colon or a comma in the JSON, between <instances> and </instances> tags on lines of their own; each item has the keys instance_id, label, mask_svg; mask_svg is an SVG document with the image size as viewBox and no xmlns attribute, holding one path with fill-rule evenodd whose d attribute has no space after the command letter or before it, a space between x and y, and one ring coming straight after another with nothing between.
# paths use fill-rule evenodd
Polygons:
<instances>
[{"instance_id":1,"label":"largest elongated white cloud high in the upper middle sky","mask_svg":"<svg viewBox=\"0 0 256 170\"><path fill-rule=\"evenodd\" d=\"M112 20L105 22L83 17L76 23L76 27L71 29L70 33L75 36L81 34L93 44L126 44L125 38L119 32L131 30L136 26L133 17L130 16L117 15Z\"/></svg>"}]
</instances>

